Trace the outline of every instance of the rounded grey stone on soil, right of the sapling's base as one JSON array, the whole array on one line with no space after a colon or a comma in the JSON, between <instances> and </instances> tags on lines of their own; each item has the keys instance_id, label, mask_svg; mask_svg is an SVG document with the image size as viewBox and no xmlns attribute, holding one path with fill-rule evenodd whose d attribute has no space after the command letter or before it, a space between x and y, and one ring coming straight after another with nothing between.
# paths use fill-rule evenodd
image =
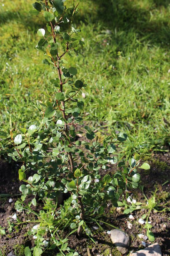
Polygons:
<instances>
[{"instance_id":1,"label":"rounded grey stone on soil, right of the sapling's base","mask_svg":"<svg viewBox=\"0 0 170 256\"><path fill-rule=\"evenodd\" d=\"M121 253L127 252L127 247L130 244L130 238L128 234L119 229L112 229L110 231L110 238L118 251Z\"/></svg>"}]
</instances>

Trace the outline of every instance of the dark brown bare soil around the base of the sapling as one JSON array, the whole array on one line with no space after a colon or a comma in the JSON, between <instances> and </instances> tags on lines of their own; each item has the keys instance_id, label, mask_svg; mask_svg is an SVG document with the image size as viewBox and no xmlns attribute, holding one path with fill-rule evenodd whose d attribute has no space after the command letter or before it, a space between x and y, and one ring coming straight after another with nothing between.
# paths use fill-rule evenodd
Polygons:
<instances>
[{"instance_id":1,"label":"dark brown bare soil around the base of the sapling","mask_svg":"<svg viewBox=\"0 0 170 256\"><path fill-rule=\"evenodd\" d=\"M161 246L163 256L170 255L170 153L169 152L160 152L153 154L152 161L147 160L151 166L150 171L141 171L141 185L144 185L144 194L149 199L153 196L155 189L156 206L154 210L150 213L149 220L152 224L152 232L155 236L155 242ZM22 184L18 180L18 163L8 163L0 159L0 194L11 194L16 195L20 194L19 186ZM141 189L133 191L131 195L132 198L136 199L137 202L144 203L146 205L146 200L142 193ZM0 252L2 256L7 256L11 251L16 256L24 256L25 246L34 246L33 239L30 240L30 237L27 235L28 229L32 227L33 223L28 223L25 226L16 225L16 221L11 221L11 217L15 210L15 201L19 196L10 196L10 197L0 197L0 226L5 230L6 235L1 235L0 239ZM9 203L9 198L12 198L13 202ZM28 198L30 201L30 198ZM137 251L143 249L142 239L138 237L138 234L146 235L146 229L144 225L139 224L138 220L141 218L144 213L148 213L148 209L142 209L134 211L132 214L134 220L129 219L129 214L123 214L125 209L122 206L120 209L115 209L111 212L108 207L105 211L105 216L101 216L101 221L110 223L111 225L121 228L126 231L131 238L131 245L129 251ZM23 216L22 216L23 218ZM9 222L10 220L10 222ZM128 223L132 223L132 228L128 228ZM9 230L9 223L11 230ZM14 225L13 225L14 223ZM90 249L92 256L105 256L105 255L114 255L120 256L121 253L118 252L113 246L107 231L112 229L109 225L101 223L102 230L92 231L93 239L96 242L95 244L89 240L88 237L83 236L79 239L76 234L72 234L69 237L69 247L75 249L81 256L88 255L87 248ZM94 225L96 224L94 223ZM67 234L66 234L67 235ZM149 240L144 241L146 244L151 243ZM53 251L50 253L48 251L44 252L43 256L53 256L57 252ZM0 254L1 255L1 254Z\"/></svg>"}]
</instances>

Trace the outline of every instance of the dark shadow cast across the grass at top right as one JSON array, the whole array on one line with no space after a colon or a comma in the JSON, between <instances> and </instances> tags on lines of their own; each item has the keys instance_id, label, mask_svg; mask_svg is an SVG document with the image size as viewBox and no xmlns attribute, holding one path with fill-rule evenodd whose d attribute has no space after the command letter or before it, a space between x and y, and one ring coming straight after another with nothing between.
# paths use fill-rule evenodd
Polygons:
<instances>
[{"instance_id":1,"label":"dark shadow cast across the grass at top right","mask_svg":"<svg viewBox=\"0 0 170 256\"><path fill-rule=\"evenodd\" d=\"M88 1L89 2L89 1ZM100 23L101 26L115 31L128 33L129 30L137 33L144 40L149 40L153 44L170 43L169 18L164 17L161 9L168 7L169 1L155 0L148 6L139 6L130 0L94 0L94 12L85 12L79 15L77 22ZM89 2L90 3L90 2ZM163 7L164 6L164 7ZM86 15L89 16L87 21ZM165 10L166 15L166 10Z\"/></svg>"}]
</instances>

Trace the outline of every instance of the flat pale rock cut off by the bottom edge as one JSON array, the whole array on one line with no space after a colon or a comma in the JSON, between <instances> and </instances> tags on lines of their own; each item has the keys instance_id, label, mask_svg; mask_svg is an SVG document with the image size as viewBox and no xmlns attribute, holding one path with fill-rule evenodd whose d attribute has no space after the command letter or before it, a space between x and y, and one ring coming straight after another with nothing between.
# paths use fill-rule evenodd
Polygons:
<instances>
[{"instance_id":1,"label":"flat pale rock cut off by the bottom edge","mask_svg":"<svg viewBox=\"0 0 170 256\"><path fill-rule=\"evenodd\" d=\"M138 252L130 253L129 256L162 256L162 252L158 243L151 244L146 247L144 250Z\"/></svg>"}]
</instances>

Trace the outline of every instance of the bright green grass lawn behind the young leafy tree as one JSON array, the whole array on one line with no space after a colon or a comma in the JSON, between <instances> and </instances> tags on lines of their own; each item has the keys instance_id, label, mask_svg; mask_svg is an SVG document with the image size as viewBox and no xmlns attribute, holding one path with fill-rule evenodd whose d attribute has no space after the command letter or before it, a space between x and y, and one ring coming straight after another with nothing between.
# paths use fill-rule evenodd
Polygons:
<instances>
[{"instance_id":1,"label":"bright green grass lawn behind the young leafy tree","mask_svg":"<svg viewBox=\"0 0 170 256\"><path fill-rule=\"evenodd\" d=\"M8 133L21 122L41 125L35 105L49 85L50 69L41 64L43 54L33 49L36 32L45 23L40 15L28 14L31 3L6 0L0 6L0 125ZM126 156L136 151L150 155L170 143L168 4L162 0L79 4L75 22L82 29L85 58L65 59L70 66L78 63L78 78L87 84L87 118L95 119L93 125L104 132L115 128L128 133L121 148ZM9 146L4 140L0 143L1 152L6 152Z\"/></svg>"}]
</instances>

